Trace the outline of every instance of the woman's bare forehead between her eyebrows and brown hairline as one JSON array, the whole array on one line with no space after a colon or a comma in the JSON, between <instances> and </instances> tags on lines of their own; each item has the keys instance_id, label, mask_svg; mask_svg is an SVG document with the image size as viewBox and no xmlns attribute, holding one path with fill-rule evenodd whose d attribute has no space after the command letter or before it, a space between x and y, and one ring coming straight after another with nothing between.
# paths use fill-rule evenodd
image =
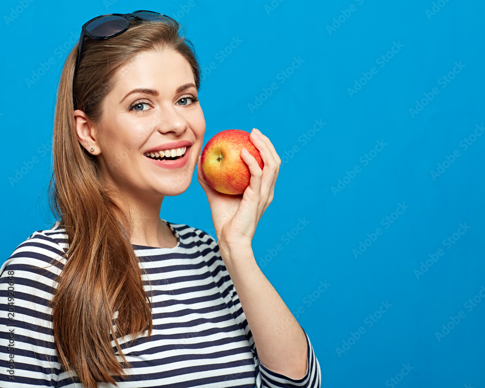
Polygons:
<instances>
[{"instance_id":1,"label":"woman's bare forehead between her eyebrows and brown hairline","mask_svg":"<svg viewBox=\"0 0 485 388\"><path fill-rule=\"evenodd\" d=\"M182 54L171 49L156 49L136 55L119 70L117 79L115 93L128 92L135 87L168 92L175 91L181 84L194 83L194 74Z\"/></svg>"}]
</instances>

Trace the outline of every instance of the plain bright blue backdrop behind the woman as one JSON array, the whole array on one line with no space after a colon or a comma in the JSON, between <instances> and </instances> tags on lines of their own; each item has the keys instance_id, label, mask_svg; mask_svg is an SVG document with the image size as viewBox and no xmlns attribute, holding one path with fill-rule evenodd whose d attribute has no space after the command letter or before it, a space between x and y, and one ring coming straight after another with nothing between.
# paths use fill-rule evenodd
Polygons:
<instances>
[{"instance_id":1,"label":"plain bright blue backdrop behind the woman","mask_svg":"<svg viewBox=\"0 0 485 388\"><path fill-rule=\"evenodd\" d=\"M53 224L67 50L85 21L135 8L186 26L206 72L204 144L256 127L283 161L253 247L312 340L322 386L485 387L482 1L3 1L1 261ZM161 217L215 237L196 172Z\"/></svg>"}]
</instances>

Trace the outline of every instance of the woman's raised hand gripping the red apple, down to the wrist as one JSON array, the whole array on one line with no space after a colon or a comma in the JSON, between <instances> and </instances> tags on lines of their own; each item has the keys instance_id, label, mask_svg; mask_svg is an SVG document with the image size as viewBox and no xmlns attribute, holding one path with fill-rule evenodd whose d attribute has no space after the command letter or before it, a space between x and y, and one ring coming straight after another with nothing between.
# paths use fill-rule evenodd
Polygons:
<instances>
[{"instance_id":1,"label":"woman's raised hand gripping the red apple, down to the wrist","mask_svg":"<svg viewBox=\"0 0 485 388\"><path fill-rule=\"evenodd\" d=\"M241 158L251 172L250 183L244 194L222 194L212 189L202 175L199 156L197 180L209 200L212 222L221 248L250 247L256 226L273 201L281 159L270 140L258 129L253 129L249 140L259 150L264 167L261 170L256 159L242 150Z\"/></svg>"}]
</instances>

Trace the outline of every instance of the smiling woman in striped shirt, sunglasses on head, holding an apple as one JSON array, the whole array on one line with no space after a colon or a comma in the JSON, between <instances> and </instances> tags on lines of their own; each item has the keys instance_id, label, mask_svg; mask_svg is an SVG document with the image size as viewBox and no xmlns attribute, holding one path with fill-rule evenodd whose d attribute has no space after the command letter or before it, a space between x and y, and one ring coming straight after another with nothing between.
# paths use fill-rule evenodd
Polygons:
<instances>
[{"instance_id":1,"label":"smiling woman in striped shirt, sunglasses on head, holding an apple","mask_svg":"<svg viewBox=\"0 0 485 388\"><path fill-rule=\"evenodd\" d=\"M244 194L207 184L189 44L150 11L83 26L55 112L58 221L0 271L2 387L320 387L310 341L251 249L280 159L254 129L264 168L241 153ZM217 242L160 218L197 163Z\"/></svg>"}]
</instances>

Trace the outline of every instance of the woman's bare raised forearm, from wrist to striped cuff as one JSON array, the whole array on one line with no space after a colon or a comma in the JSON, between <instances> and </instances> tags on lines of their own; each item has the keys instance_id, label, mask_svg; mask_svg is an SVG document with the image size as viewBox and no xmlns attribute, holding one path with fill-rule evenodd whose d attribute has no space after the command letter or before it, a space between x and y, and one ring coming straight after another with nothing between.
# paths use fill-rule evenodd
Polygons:
<instances>
[{"instance_id":1,"label":"woman's bare raised forearm, from wrist to striped cuff","mask_svg":"<svg viewBox=\"0 0 485 388\"><path fill-rule=\"evenodd\" d=\"M223 247L221 256L238 293L261 363L293 379L304 377L305 333L259 269L251 246Z\"/></svg>"}]
</instances>

